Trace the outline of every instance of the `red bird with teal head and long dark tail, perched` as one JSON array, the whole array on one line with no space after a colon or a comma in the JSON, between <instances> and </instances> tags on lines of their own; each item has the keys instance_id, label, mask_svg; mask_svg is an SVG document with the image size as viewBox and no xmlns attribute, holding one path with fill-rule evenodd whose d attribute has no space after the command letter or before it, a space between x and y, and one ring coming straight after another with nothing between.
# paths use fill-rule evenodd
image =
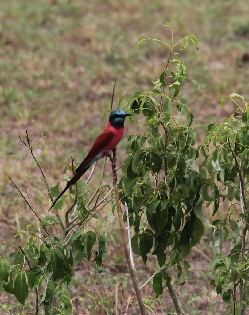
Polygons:
<instances>
[{"instance_id":1,"label":"red bird with teal head and long dark tail, perched","mask_svg":"<svg viewBox=\"0 0 249 315\"><path fill-rule=\"evenodd\" d=\"M118 109L110 113L109 122L102 133L94 141L90 151L76 169L75 175L69 180L64 190L55 199L52 206L49 208L50 211L55 203L61 198L61 196L69 189L71 185L74 185L80 177L85 174L87 169L102 157L107 155L108 151L112 151L119 141L121 140L124 133L124 121L125 117L132 116L132 114L125 113Z\"/></svg>"}]
</instances>

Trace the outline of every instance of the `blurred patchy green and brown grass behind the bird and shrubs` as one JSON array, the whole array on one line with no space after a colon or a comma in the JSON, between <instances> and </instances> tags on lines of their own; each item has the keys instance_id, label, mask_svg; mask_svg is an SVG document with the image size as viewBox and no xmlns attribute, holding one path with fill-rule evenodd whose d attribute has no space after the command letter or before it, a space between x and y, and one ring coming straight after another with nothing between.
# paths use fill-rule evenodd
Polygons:
<instances>
[{"instance_id":1,"label":"blurred patchy green and brown grass behind the bird and shrubs","mask_svg":"<svg viewBox=\"0 0 249 315\"><path fill-rule=\"evenodd\" d=\"M219 107L222 96L236 92L249 97L249 63L243 61L249 51L248 21L249 3L244 0L236 3L230 0L1 0L0 216L3 253L13 248L11 237L15 230L33 221L18 193L4 177L10 175L23 189L23 176L32 169L28 184L35 207L43 215L49 206L43 179L19 141L18 132L24 137L25 130L30 131L34 125L32 135L36 141L41 133L47 137L42 141L46 146L37 147L35 154L49 184L54 186L61 176L60 166L70 162L70 155L81 161L106 125L108 119L102 114L110 104L113 80L117 79L114 107L122 91L122 104L125 105L134 92L152 88L151 81L158 78L169 51L159 43L144 43L139 48L136 44L145 36L170 43L171 32L162 26L169 22L173 25L175 40L189 34L196 35L199 40L200 51L188 47L182 57L188 77L196 80L200 88L194 90L191 83L186 82L181 96L189 101L200 143L207 124L232 111L230 104L224 109ZM126 122L126 132L119 145L120 161L125 157L128 135L142 129L138 123ZM99 172L100 169L99 166ZM110 166L107 178L108 175ZM115 305L117 297L121 314L129 301L129 280L126 274L120 273L124 261L121 245L117 242L119 230L115 218L106 224L109 212L107 208L102 221L98 220L98 231L107 237L110 252L105 260L108 266L102 270L107 277L101 278L110 303ZM212 257L207 237L203 238L201 248L204 254ZM226 313L220 298L208 286L208 260L198 251L191 254L190 260L190 280L184 287L177 288L185 313ZM141 280L154 272L154 266L152 261L145 268L138 260ZM91 278L94 266L77 268L78 286L73 294L75 314L86 314L86 303L99 305L99 314L105 314L105 297L98 278L94 280L96 288L93 290L98 294L91 293L90 289L94 282ZM91 272L87 268L91 268ZM121 279L124 294L120 288ZM163 309L173 313L166 291L161 298L162 307L158 300L154 301L151 288L145 293L146 303L155 313L161 314ZM4 296L2 307L13 310L13 303L6 300L9 297ZM127 314L136 314L135 304L132 300L129 303ZM94 312L89 310L89 314Z\"/></svg>"}]
</instances>

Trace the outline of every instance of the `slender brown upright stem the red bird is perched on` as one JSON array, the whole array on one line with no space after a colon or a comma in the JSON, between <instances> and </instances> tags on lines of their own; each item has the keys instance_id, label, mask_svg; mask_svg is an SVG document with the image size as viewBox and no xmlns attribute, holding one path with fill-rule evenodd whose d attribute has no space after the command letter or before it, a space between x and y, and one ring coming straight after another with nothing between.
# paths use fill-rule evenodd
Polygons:
<instances>
[{"instance_id":1,"label":"slender brown upright stem the red bird is perched on","mask_svg":"<svg viewBox=\"0 0 249 315\"><path fill-rule=\"evenodd\" d=\"M124 247L124 255L125 255L125 259L130 271L130 276L132 279L132 283L136 292L136 297L137 297L137 301L138 301L138 305L139 305L139 309L140 309L140 314L141 315L146 315L146 311L145 311L145 306L143 303L143 299L142 299L142 294L141 294L141 290L139 289L139 284L136 278L136 273L135 270L132 266L132 263L130 261L130 255L129 255L129 250L128 250L128 246L126 243L126 233L125 233L125 228L124 228L124 222L122 219L122 215L121 215L121 206L120 206L120 201L119 201L119 192L118 192L118 186L117 186L117 171L116 169L116 148L113 149L113 156L111 157L110 154L108 154L108 156L110 157L110 160L112 162L112 169L113 169L113 187L114 187L114 194L115 194L115 201L116 201L116 207L117 207L117 214L118 214L118 218L119 218L119 224L120 224L120 228L121 228L121 235L122 235L122 240L123 240L123 247Z\"/></svg>"}]
</instances>

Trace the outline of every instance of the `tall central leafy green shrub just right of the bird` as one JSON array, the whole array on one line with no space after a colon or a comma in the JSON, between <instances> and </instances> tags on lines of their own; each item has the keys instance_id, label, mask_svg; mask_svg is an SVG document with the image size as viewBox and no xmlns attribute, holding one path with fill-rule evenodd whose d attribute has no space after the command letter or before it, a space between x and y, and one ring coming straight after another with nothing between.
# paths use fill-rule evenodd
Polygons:
<instances>
[{"instance_id":1,"label":"tall central leafy green shrub just right of the bird","mask_svg":"<svg viewBox=\"0 0 249 315\"><path fill-rule=\"evenodd\" d=\"M151 40L147 37L138 44ZM189 264L183 258L204 233L199 209L210 199L202 189L208 186L208 181L195 170L198 151L194 148L196 132L191 128L193 114L187 101L178 98L181 84L187 78L186 67L181 59L170 61L175 47L183 40L185 45L181 49L189 42L199 49L192 35L172 43L168 62L152 82L152 90L136 92L129 101L130 112L142 115L147 130L128 138L129 156L119 182L120 201L128 204L130 225L135 231L132 249L144 264L152 252L161 267L153 278L156 295L161 295L165 283L171 281L166 274L163 279L163 270L171 266L177 266L177 283L184 284ZM195 81L193 84L196 86ZM216 195L214 188L212 198Z\"/></svg>"}]
</instances>

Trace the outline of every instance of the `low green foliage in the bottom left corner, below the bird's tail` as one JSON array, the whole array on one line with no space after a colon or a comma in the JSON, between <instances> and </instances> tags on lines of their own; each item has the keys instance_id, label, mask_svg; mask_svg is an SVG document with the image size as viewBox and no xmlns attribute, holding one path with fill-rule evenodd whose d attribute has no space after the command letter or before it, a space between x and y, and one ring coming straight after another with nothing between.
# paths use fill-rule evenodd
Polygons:
<instances>
[{"instance_id":1,"label":"low green foliage in the bottom left corner, below the bird's tail","mask_svg":"<svg viewBox=\"0 0 249 315\"><path fill-rule=\"evenodd\" d=\"M36 144L32 145L30 135L27 134L26 141L22 140L22 142L32 153ZM72 169L72 166L68 166L67 170L68 168ZM69 180L70 177L67 176L66 179ZM27 176L25 176L25 185L26 180ZM102 186L102 179L100 185ZM29 293L32 294L31 292L34 291L36 309L42 304L41 309L45 310L46 315L50 314L51 309L53 314L71 315L73 310L68 289L73 289L75 264L87 259L95 261L97 268L101 266L102 258L106 254L106 239L96 231L83 232L81 229L86 229L85 224L89 216L95 215L97 207L103 201L98 204L96 201L90 208L94 199L91 195L89 197L91 202L86 202L88 194L86 186L86 183L79 182L77 188L70 187L73 205L66 211L65 224L61 214L58 213L66 197L63 196L58 201L59 206L55 206L56 216L47 215L39 218L35 213L37 226L32 227L29 224L26 231L18 231L14 236L14 238L25 239L22 248L15 252L14 264L11 266L4 258L0 260L0 289L14 295L24 308L29 301L34 300L27 301ZM99 188L97 192L98 190ZM49 195L50 193L56 198L60 193L59 185L52 187ZM59 227L61 234L58 232Z\"/></svg>"}]
</instances>

